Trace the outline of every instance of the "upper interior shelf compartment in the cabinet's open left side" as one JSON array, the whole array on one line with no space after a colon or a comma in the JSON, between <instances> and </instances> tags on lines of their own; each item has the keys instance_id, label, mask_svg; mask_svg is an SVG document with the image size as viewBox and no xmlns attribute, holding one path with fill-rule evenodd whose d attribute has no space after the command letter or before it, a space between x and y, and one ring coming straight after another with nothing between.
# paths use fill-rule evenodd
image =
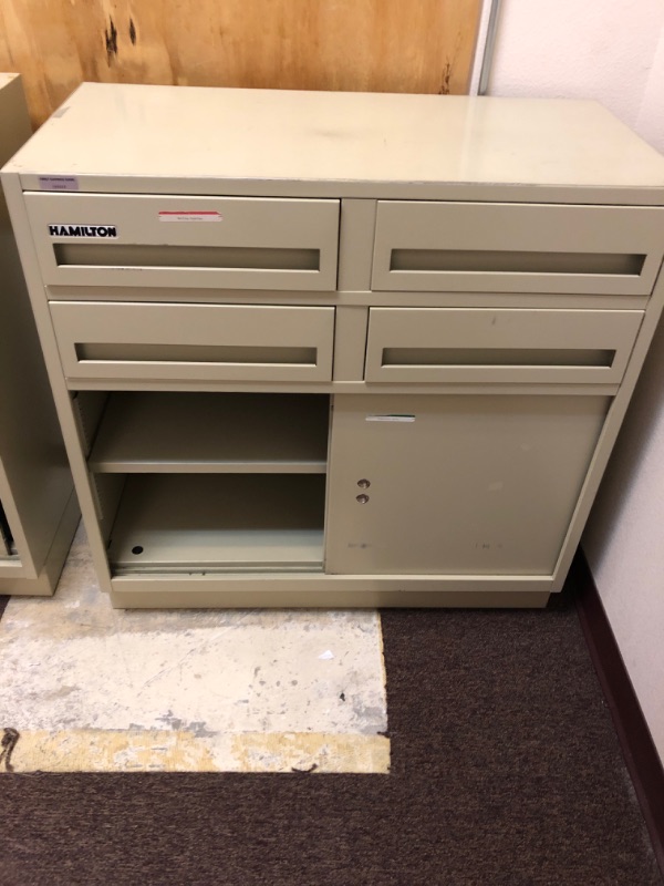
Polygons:
<instances>
[{"instance_id":1,"label":"upper interior shelf compartment in the cabinet's open left side","mask_svg":"<svg viewBox=\"0 0 664 886\"><path fill-rule=\"evenodd\" d=\"M115 392L89 464L97 473L325 473L321 394Z\"/></svg>"}]
</instances>

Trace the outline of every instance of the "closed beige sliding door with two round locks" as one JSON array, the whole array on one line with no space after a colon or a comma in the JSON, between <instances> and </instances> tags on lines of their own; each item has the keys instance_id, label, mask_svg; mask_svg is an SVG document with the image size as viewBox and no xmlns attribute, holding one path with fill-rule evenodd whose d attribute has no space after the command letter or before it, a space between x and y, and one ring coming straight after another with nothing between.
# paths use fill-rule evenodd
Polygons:
<instances>
[{"instance_id":1,"label":"closed beige sliding door with two round locks","mask_svg":"<svg viewBox=\"0 0 664 886\"><path fill-rule=\"evenodd\" d=\"M335 396L326 571L551 575L609 404Z\"/></svg>"}]
</instances>

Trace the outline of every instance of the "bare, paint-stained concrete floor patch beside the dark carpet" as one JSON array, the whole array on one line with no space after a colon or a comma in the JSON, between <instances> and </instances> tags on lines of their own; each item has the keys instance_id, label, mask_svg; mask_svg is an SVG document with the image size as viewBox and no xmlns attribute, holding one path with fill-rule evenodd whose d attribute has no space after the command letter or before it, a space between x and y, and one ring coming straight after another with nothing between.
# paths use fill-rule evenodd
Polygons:
<instances>
[{"instance_id":1,"label":"bare, paint-stained concrete floor patch beside the dark carpet","mask_svg":"<svg viewBox=\"0 0 664 886\"><path fill-rule=\"evenodd\" d=\"M114 610L79 534L53 598L0 620L20 771L386 772L373 611Z\"/></svg>"}]
</instances>

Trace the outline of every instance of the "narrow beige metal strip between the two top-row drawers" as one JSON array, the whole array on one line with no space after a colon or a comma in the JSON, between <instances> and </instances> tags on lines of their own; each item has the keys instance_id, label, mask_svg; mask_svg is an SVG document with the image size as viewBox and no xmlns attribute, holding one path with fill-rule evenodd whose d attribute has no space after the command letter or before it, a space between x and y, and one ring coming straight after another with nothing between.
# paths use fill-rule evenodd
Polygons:
<instances>
[{"instance_id":1,"label":"narrow beige metal strip between the two top-row drawers","mask_svg":"<svg viewBox=\"0 0 664 886\"><path fill-rule=\"evenodd\" d=\"M340 290L371 289L375 224L375 200L341 202L338 284Z\"/></svg>"}]
</instances>

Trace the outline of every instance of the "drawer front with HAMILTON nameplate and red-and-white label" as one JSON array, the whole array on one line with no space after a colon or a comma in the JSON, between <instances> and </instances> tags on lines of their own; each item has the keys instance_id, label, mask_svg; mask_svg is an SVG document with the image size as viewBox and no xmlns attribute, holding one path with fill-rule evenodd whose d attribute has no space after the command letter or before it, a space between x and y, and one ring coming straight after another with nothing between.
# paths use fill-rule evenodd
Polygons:
<instances>
[{"instance_id":1,"label":"drawer front with HAMILTON nameplate and red-and-white label","mask_svg":"<svg viewBox=\"0 0 664 886\"><path fill-rule=\"evenodd\" d=\"M46 284L336 287L339 200L27 194Z\"/></svg>"}]
</instances>

